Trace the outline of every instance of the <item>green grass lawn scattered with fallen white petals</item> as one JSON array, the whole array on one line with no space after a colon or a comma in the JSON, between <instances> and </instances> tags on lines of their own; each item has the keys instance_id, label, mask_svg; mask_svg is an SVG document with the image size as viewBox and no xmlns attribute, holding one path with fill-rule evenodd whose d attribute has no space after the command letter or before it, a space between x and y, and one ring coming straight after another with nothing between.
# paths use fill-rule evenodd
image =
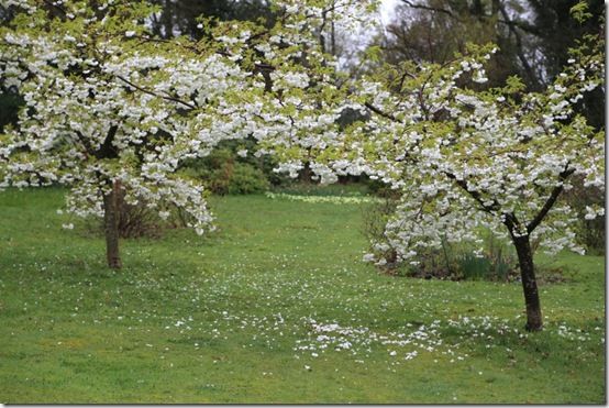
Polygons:
<instances>
[{"instance_id":1,"label":"green grass lawn scattered with fallen white petals","mask_svg":"<svg viewBox=\"0 0 609 408\"><path fill-rule=\"evenodd\" d=\"M541 286L378 275L357 205L214 198L219 230L123 241L0 194L0 403L605 404L602 257Z\"/></svg>"}]
</instances>

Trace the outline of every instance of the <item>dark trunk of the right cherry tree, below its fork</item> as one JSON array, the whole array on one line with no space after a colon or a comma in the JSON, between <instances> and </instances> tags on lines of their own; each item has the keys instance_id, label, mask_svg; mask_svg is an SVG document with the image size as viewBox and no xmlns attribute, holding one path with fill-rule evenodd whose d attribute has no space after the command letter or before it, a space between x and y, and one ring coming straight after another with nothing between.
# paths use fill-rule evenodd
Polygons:
<instances>
[{"instance_id":1,"label":"dark trunk of the right cherry tree, below its fork","mask_svg":"<svg viewBox=\"0 0 609 408\"><path fill-rule=\"evenodd\" d=\"M540 296L538 291L538 282L533 267L533 252L531 251L531 241L529 235L513 236L513 244L518 253L518 263L520 265L520 276L522 278L522 289L524 290L524 302L527 305L527 326L528 331L539 331L542 328L542 316Z\"/></svg>"}]
</instances>

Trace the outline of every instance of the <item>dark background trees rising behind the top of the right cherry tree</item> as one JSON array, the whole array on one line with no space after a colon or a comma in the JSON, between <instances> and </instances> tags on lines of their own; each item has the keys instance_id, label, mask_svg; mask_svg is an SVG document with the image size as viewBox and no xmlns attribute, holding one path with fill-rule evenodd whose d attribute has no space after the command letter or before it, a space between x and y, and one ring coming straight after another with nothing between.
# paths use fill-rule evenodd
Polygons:
<instances>
[{"instance_id":1,"label":"dark background trees rising behind the top of the right cherry tree","mask_svg":"<svg viewBox=\"0 0 609 408\"><path fill-rule=\"evenodd\" d=\"M602 26L605 3L588 0L591 18L580 23L569 10L577 0L401 0L380 36L384 58L443 64L467 43L499 47L488 69L490 86L518 75L532 91L552 84L577 38ZM597 89L579 102L588 122L605 123L605 95Z\"/></svg>"}]
</instances>

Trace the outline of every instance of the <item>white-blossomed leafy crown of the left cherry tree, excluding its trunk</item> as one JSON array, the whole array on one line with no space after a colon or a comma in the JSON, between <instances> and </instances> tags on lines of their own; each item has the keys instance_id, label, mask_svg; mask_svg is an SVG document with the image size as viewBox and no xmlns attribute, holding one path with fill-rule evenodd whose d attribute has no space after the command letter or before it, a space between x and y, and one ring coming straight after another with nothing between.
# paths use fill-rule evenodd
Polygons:
<instances>
[{"instance_id":1,"label":"white-blossomed leafy crown of the left cherry tree, excluding its trunk","mask_svg":"<svg viewBox=\"0 0 609 408\"><path fill-rule=\"evenodd\" d=\"M1 85L25 101L0 136L2 186L70 186L68 210L89 216L120 183L128 202L177 206L202 233L212 218L184 161L228 139L265 141L264 154L334 135L340 82L319 37L329 10L350 22L370 4L275 1L272 27L202 19L193 41L151 35L158 10L143 1L2 0L15 15L0 29Z\"/></svg>"}]
</instances>

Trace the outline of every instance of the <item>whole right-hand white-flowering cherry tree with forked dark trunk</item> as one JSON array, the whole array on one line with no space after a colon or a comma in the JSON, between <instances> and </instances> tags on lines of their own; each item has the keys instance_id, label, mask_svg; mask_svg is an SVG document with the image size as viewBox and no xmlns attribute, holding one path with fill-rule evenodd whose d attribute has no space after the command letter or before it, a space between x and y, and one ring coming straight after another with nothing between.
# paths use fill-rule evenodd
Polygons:
<instances>
[{"instance_id":1,"label":"whole right-hand white-flowering cherry tree with forked dark trunk","mask_svg":"<svg viewBox=\"0 0 609 408\"><path fill-rule=\"evenodd\" d=\"M377 265L417 264L422 249L439 249L443 239L481 244L483 230L510 240L527 329L540 330L531 242L549 253L582 253L574 222L604 213L588 207L578 214L560 200L574 176L604 188L604 132L575 110L585 92L602 85L602 41L584 38L540 93L527 92L518 78L484 90L494 51L473 46L444 66L405 63L364 81L356 102L368 120L351 125L343 144L320 159L334 173L367 173L400 192L384 239L365 256Z\"/></svg>"}]
</instances>

